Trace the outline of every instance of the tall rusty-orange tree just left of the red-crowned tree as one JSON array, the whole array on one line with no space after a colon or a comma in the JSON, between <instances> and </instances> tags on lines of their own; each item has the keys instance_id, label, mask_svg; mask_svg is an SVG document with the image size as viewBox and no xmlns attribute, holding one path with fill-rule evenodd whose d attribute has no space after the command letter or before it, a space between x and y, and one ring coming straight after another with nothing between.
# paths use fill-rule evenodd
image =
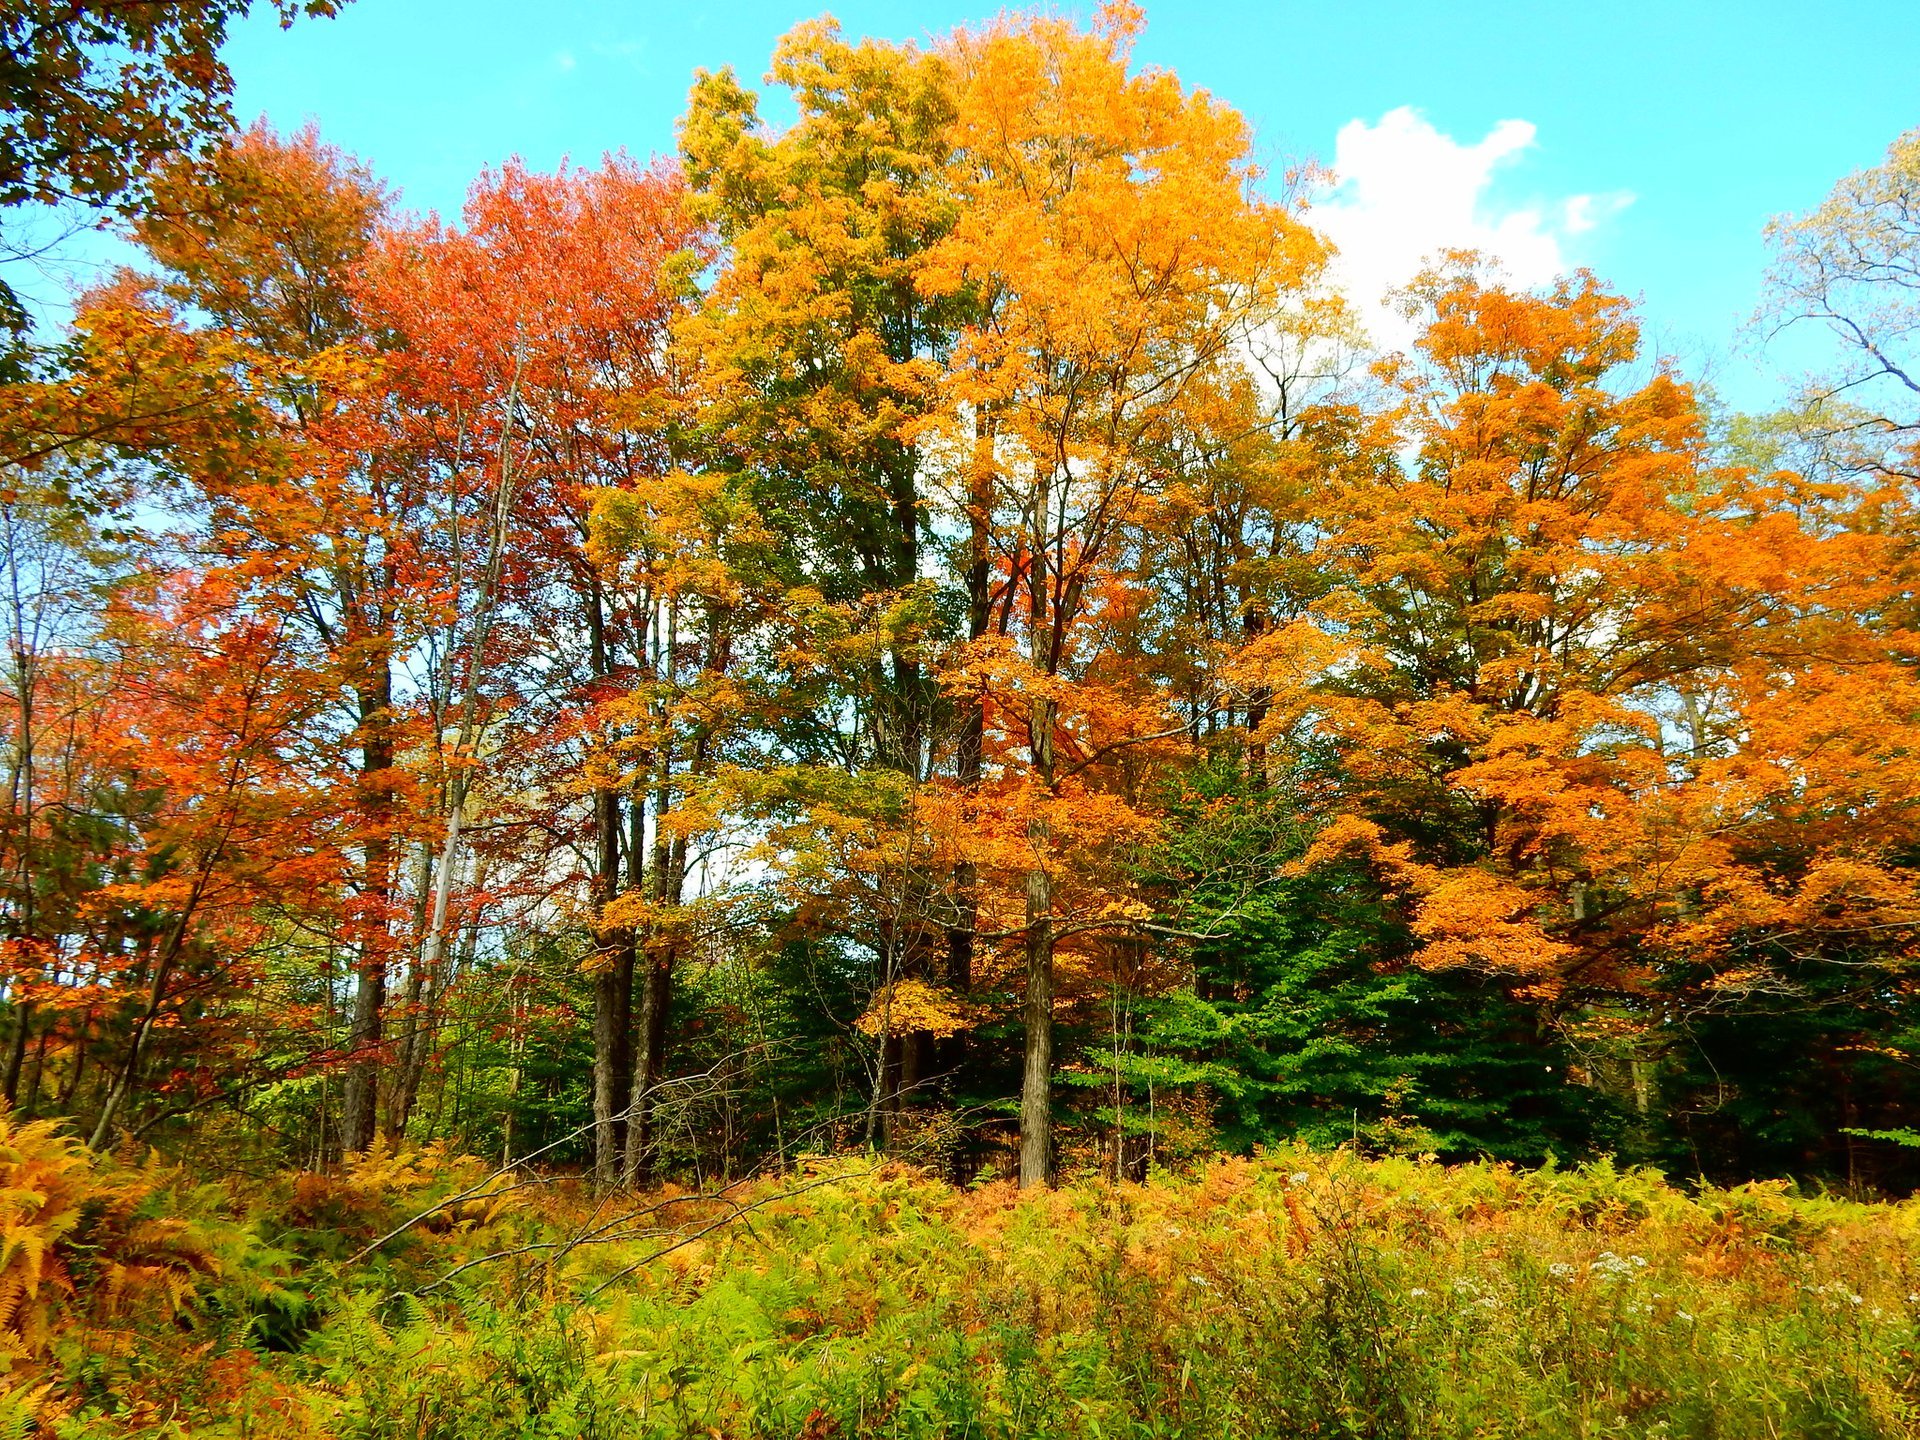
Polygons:
<instances>
[{"instance_id":1,"label":"tall rusty-orange tree just left of the red-crowned tree","mask_svg":"<svg viewBox=\"0 0 1920 1440\"><path fill-rule=\"evenodd\" d=\"M349 927L357 960L342 1139L372 1142L388 966L396 943L403 730L396 666L438 588L419 538L434 505L428 474L384 444L374 321L355 271L384 217L371 173L313 131L236 136L209 165L180 161L156 180L136 238L163 267L173 328L204 328L250 394L276 453L211 467L175 453L186 501L205 516L219 564L267 597L294 597L313 685L334 695L330 737L357 755L361 829ZM205 317L192 326L184 317Z\"/></svg>"}]
</instances>

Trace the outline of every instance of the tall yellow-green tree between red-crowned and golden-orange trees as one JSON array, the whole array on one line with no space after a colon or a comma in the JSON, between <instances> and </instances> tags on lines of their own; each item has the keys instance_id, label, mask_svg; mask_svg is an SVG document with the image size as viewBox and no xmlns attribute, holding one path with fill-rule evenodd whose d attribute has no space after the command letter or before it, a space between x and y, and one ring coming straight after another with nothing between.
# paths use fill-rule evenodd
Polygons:
<instances>
[{"instance_id":1,"label":"tall yellow-green tree between red-crowned and golden-orange trees","mask_svg":"<svg viewBox=\"0 0 1920 1440\"><path fill-rule=\"evenodd\" d=\"M916 432L941 403L935 382L972 313L970 294L918 282L956 213L941 167L952 94L941 56L849 44L831 21L783 36L768 79L799 109L778 136L728 71L699 77L682 123L693 204L726 246L678 332L697 374L689 430L701 461L733 476L783 541L780 578L793 601L781 628L804 662L770 685L762 712L797 766L785 772L787 801L803 810L810 795L845 801L839 776L810 772L851 772L881 814L900 778L912 789L943 762L948 732L977 730L977 712L958 718L939 693L927 659L954 609L973 634L985 624L981 532L958 541L968 559L943 566L956 538L933 524ZM964 599L952 593L960 586ZM977 743L966 755L962 768L977 772ZM764 787L743 799L749 810L772 803ZM939 904L935 877L918 868L883 887L895 883L920 885L887 908L902 925L852 937L877 956L879 985L895 970L945 972L964 993L972 918ZM925 1031L879 1041L889 1131L906 1096L925 1089L933 1046Z\"/></svg>"}]
</instances>

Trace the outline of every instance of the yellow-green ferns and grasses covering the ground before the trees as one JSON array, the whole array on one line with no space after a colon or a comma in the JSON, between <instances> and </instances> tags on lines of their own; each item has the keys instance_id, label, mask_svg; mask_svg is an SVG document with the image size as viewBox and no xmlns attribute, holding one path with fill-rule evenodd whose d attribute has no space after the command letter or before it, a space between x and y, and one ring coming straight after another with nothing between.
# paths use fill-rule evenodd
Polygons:
<instances>
[{"instance_id":1,"label":"yellow-green ferns and grasses covering the ground before the trees","mask_svg":"<svg viewBox=\"0 0 1920 1440\"><path fill-rule=\"evenodd\" d=\"M1304 1150L215 1185L4 1121L0 1181L0 1434L1920 1434L1916 1202Z\"/></svg>"}]
</instances>

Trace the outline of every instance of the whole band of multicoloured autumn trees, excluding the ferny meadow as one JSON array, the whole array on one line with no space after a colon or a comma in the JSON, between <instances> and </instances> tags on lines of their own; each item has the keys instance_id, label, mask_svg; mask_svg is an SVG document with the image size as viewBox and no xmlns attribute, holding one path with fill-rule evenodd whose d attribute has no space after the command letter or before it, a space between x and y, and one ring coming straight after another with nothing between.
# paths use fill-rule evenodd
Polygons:
<instances>
[{"instance_id":1,"label":"whole band of multicoloured autumn trees, excluding the ferny meadow","mask_svg":"<svg viewBox=\"0 0 1920 1440\"><path fill-rule=\"evenodd\" d=\"M1755 417L1592 275L1375 351L1125 4L806 23L791 125L703 73L457 219L146 10L6 19L0 202L140 252L0 388L21 1119L1920 1177L1914 136L1776 225Z\"/></svg>"}]
</instances>

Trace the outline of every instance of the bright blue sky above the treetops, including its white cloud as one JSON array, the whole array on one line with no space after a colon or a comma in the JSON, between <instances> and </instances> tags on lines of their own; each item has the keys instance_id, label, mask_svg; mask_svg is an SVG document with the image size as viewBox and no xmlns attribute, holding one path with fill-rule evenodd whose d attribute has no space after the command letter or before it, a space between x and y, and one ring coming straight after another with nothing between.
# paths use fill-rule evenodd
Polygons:
<instances>
[{"instance_id":1,"label":"bright blue sky above the treetops, including its white cloud","mask_svg":"<svg viewBox=\"0 0 1920 1440\"><path fill-rule=\"evenodd\" d=\"M353 0L290 33L255 15L227 58L242 117L317 119L409 205L451 213L513 154L547 167L672 148L695 67L758 77L812 13L803 0ZM833 13L851 35L924 38L993 6ZM1236 106L1275 167L1348 161L1329 228L1356 286L1467 227L1521 278L1594 267L1644 301L1657 348L1749 407L1778 369L1736 351L1761 227L1920 125L1914 0L1148 0L1137 58Z\"/></svg>"}]
</instances>

